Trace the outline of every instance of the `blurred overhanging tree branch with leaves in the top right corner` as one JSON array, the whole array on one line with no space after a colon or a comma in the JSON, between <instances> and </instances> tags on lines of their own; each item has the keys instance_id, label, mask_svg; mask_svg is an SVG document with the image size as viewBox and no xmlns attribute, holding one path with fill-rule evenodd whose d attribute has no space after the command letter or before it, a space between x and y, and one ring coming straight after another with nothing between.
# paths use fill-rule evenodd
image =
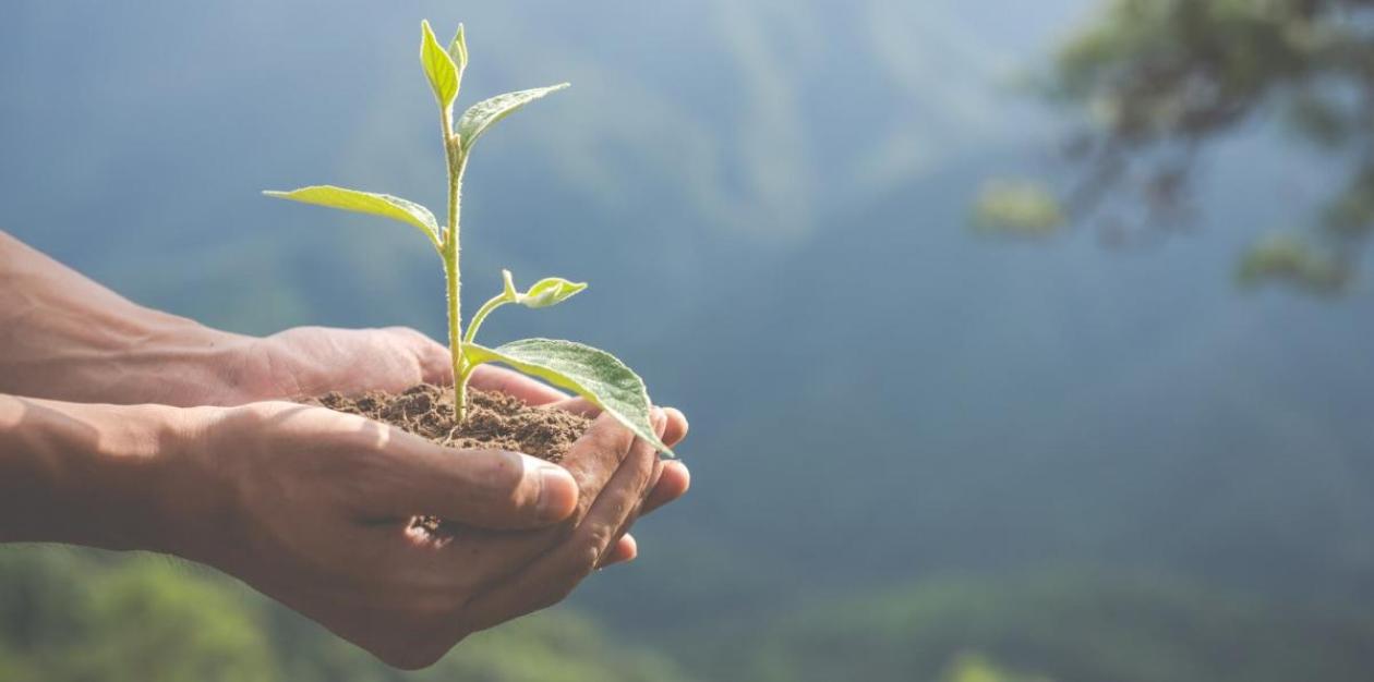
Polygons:
<instances>
[{"instance_id":1,"label":"blurred overhanging tree branch with leaves in the top right corner","mask_svg":"<svg viewBox=\"0 0 1374 682\"><path fill-rule=\"evenodd\" d=\"M1084 166L1081 187L1070 192L1076 217L1124 193L1113 191L1134 189L1153 222L1186 215L1180 204L1195 156L1278 114L1298 139L1349 166L1351 181L1301 237L1320 243L1338 268L1294 258L1287 248L1261 248L1245 257L1239 281L1338 291L1374 232L1369 8L1367 0L1103 3L1096 19L1061 47L1043 80L1052 102L1083 114L1081 129L1065 145L1070 161ZM1103 224L1120 229L1114 218Z\"/></svg>"}]
</instances>

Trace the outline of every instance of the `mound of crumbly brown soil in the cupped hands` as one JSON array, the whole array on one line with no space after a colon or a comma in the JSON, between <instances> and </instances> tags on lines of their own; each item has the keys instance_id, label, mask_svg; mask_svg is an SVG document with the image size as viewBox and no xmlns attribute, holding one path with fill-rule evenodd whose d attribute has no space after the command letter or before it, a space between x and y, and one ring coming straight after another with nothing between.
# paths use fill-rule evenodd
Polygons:
<instances>
[{"instance_id":1,"label":"mound of crumbly brown soil in the cupped hands","mask_svg":"<svg viewBox=\"0 0 1374 682\"><path fill-rule=\"evenodd\" d=\"M306 401L400 427L436 443L464 449L499 449L556 462L591 420L563 410L532 408L503 392L467 391L467 420L453 423L451 388L414 386L401 394L337 392Z\"/></svg>"}]
</instances>

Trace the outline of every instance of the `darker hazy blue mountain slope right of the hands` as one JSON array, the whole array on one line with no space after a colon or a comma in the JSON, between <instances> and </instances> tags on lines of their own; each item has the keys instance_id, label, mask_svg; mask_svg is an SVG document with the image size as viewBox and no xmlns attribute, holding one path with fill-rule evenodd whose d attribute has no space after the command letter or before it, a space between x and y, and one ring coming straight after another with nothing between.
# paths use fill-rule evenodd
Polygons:
<instances>
[{"instance_id":1,"label":"darker hazy blue mountain slope right of the hands","mask_svg":"<svg viewBox=\"0 0 1374 682\"><path fill-rule=\"evenodd\" d=\"M1242 296L1209 265L1243 239L1237 225L1272 215L1249 169L1278 155L1230 151L1187 247L1091 258L948 229L978 178L1015 165L973 156L734 283L750 295L668 336L708 349L666 381L692 408L684 451L702 454L662 523L695 537L647 558L646 583L731 557L721 582L739 591L709 604L738 613L1062 561L1367 594L1374 432L1359 413L1374 365L1358 358L1374 321Z\"/></svg>"}]
</instances>

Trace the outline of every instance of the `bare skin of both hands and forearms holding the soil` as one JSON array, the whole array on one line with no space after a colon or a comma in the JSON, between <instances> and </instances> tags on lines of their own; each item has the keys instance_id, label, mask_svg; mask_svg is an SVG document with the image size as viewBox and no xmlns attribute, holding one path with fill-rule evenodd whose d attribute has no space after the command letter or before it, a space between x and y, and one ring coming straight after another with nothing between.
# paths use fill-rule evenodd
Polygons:
<instances>
[{"instance_id":1,"label":"bare skin of both hands and forearms holding the soil","mask_svg":"<svg viewBox=\"0 0 1374 682\"><path fill-rule=\"evenodd\" d=\"M426 667L635 558L629 527L690 480L606 416L551 465L282 402L447 373L447 350L412 329L221 332L0 232L0 542L199 561L386 663ZM473 384L596 416L508 371ZM687 434L671 408L654 425L669 445ZM416 515L453 531L415 532Z\"/></svg>"}]
</instances>

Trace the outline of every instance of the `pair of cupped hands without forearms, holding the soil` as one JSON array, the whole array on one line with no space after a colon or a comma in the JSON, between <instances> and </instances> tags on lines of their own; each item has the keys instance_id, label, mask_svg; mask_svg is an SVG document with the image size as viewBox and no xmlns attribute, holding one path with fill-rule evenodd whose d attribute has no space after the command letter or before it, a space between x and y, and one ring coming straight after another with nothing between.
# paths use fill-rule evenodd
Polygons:
<instances>
[{"instance_id":1,"label":"pair of cupped hands without forearms, holding the soil","mask_svg":"<svg viewBox=\"0 0 1374 682\"><path fill-rule=\"evenodd\" d=\"M223 381L147 386L190 408L188 484L227 484L220 532L176 553L232 574L383 661L419 668L466 635L550 607L595 569L635 558L638 516L687 491L688 473L595 406L482 366L471 386L596 417L561 465L521 453L440 447L363 417L284 398L401 391L451 380L448 350L408 328L297 328L235 338ZM137 380L122 383L137 391ZM170 394L169 394L170 391ZM672 446L687 434L654 409ZM187 491L195 494L195 491ZM453 532L415 532L437 516ZM203 526L202 526L203 527Z\"/></svg>"}]
</instances>

